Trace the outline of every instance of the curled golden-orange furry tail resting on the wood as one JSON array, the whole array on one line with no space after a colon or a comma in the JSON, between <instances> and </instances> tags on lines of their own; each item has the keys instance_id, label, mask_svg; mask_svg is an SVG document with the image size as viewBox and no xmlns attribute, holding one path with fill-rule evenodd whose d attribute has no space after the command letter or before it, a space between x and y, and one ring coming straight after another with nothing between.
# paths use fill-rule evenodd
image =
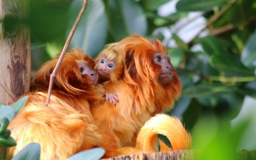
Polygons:
<instances>
[{"instance_id":1,"label":"curled golden-orange furry tail resting on the wood","mask_svg":"<svg viewBox=\"0 0 256 160\"><path fill-rule=\"evenodd\" d=\"M156 114L140 129L136 147L143 152L157 151L157 135L165 135L172 144L169 150L184 150L191 147L191 136L180 120L167 114ZM161 151L166 151L167 145L160 141Z\"/></svg>"}]
</instances>

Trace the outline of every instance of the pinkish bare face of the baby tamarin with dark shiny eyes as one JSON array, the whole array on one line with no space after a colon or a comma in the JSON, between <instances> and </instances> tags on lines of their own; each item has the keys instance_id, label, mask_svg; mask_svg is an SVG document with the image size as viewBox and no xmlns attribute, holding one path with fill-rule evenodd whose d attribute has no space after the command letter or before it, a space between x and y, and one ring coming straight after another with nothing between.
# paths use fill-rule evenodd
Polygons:
<instances>
[{"instance_id":1,"label":"pinkish bare face of the baby tamarin with dark shiny eyes","mask_svg":"<svg viewBox=\"0 0 256 160\"><path fill-rule=\"evenodd\" d=\"M110 78L110 73L115 69L115 63L106 59L101 58L97 67L98 74L102 77Z\"/></svg>"}]
</instances>

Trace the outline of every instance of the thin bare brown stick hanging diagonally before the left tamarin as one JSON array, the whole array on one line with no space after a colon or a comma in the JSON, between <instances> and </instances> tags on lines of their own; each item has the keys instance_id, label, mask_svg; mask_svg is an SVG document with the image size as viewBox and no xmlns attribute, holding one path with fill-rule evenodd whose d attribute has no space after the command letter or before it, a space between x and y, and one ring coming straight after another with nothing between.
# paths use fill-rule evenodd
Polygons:
<instances>
[{"instance_id":1,"label":"thin bare brown stick hanging diagonally before the left tamarin","mask_svg":"<svg viewBox=\"0 0 256 160\"><path fill-rule=\"evenodd\" d=\"M66 43L65 43L65 45L64 45L64 47L63 47L63 50L62 50L62 52L61 52L61 54L60 54L60 58L59 58L59 60L58 60L58 62L57 62L57 64L56 64L56 66L55 66L55 68L53 69L52 74L51 74L51 76L50 76L50 83L49 83L49 88L48 88L48 96L47 96L45 105L48 105L48 104L49 104L50 97L51 97L51 93L52 93L52 86L53 86L54 78L55 78L55 76L56 76L56 74L57 74L57 72L58 72L58 70L59 70L59 68L60 68L60 64L61 64L61 62L63 61L63 58L64 58L64 56L65 56L65 54L66 54L66 52L67 52L69 43L70 43L70 41L71 41L71 39L72 39L72 37L73 37L73 35L74 35L74 33L75 33L76 27L77 27L77 25L78 25L78 23L79 23L79 21L80 21L82 15L83 15L85 9L86 9L86 7L87 7L87 0L84 0L84 3L82 4L82 9L81 9L81 11L79 12L79 14L78 14L78 16L77 16L77 18L76 18L76 21L75 21L75 23L74 23L74 25L73 25L73 27L72 27L72 29L71 29L69 35L68 35L68 39L67 39L67 41L66 41Z\"/></svg>"}]
</instances>

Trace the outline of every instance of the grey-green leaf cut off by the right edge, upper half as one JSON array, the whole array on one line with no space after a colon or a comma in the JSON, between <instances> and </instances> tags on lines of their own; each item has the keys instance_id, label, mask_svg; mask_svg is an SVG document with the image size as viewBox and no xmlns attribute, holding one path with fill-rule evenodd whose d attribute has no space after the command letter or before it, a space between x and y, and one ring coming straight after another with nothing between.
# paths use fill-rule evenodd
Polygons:
<instances>
[{"instance_id":1,"label":"grey-green leaf cut off by the right edge, upper half","mask_svg":"<svg viewBox=\"0 0 256 160\"><path fill-rule=\"evenodd\" d=\"M242 55L241 55L241 62L247 68L252 68L256 66L256 30L252 34L252 36L247 41Z\"/></svg>"}]
</instances>

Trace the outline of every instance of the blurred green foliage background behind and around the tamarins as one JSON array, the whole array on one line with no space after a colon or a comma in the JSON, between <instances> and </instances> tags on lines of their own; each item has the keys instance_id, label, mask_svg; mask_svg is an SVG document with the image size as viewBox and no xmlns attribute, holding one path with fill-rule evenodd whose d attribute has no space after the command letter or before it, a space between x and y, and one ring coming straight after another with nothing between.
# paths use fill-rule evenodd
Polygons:
<instances>
[{"instance_id":1,"label":"blurred green foliage background behind and around the tamarins","mask_svg":"<svg viewBox=\"0 0 256 160\"><path fill-rule=\"evenodd\" d=\"M82 0L30 4L37 70L63 47ZM158 38L168 48L183 87L168 114L192 132L194 148L202 150L198 158L234 158L234 150L248 142L238 141L253 121L230 126L242 106L248 108L245 97L256 98L256 0L89 0L70 47L95 57L105 44L131 34Z\"/></svg>"}]
</instances>

